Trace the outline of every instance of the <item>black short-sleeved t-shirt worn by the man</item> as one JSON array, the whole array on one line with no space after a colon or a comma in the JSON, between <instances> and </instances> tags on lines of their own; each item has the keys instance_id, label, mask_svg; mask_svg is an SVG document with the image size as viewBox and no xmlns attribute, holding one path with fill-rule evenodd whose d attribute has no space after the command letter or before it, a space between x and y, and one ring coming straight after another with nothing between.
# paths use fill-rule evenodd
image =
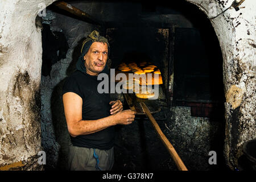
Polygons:
<instances>
[{"instance_id":1,"label":"black short-sleeved t-shirt worn by the man","mask_svg":"<svg viewBox=\"0 0 256 182\"><path fill-rule=\"evenodd\" d=\"M82 120L96 120L110 115L109 93L98 93L97 86L101 80L97 76L76 71L67 77L63 94L73 92L82 98ZM109 150L114 145L114 126L88 135L71 137L73 146Z\"/></svg>"}]
</instances>

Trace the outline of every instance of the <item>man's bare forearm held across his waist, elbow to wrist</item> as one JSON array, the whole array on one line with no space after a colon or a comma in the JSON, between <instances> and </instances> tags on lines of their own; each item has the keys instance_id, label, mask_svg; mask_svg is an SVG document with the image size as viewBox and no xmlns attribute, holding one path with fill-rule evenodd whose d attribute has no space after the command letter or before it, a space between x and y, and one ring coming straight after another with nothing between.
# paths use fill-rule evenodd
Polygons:
<instances>
[{"instance_id":1,"label":"man's bare forearm held across his waist, elbow to wrist","mask_svg":"<svg viewBox=\"0 0 256 182\"><path fill-rule=\"evenodd\" d=\"M96 120L80 120L73 123L71 135L88 135L117 124L114 115Z\"/></svg>"}]
</instances>

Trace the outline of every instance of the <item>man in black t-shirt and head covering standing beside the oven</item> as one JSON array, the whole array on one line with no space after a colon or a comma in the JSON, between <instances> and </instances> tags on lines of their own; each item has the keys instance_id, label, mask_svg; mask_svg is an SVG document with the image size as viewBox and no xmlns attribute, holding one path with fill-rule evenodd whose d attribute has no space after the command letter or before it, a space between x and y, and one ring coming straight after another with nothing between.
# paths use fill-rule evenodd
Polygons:
<instances>
[{"instance_id":1,"label":"man in black t-shirt and head covering standing beside the oven","mask_svg":"<svg viewBox=\"0 0 256 182\"><path fill-rule=\"evenodd\" d=\"M114 125L129 125L135 113L121 101L98 93L97 76L107 73L108 40L93 31L84 41L75 71L63 86L63 104L72 144L71 170L110 170L114 163Z\"/></svg>"}]
</instances>

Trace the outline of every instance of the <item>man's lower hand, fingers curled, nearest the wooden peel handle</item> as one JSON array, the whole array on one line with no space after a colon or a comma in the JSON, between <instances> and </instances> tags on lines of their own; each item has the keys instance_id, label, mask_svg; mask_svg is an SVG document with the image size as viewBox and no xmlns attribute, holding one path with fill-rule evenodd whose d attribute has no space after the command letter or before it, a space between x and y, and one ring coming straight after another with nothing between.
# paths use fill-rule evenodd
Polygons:
<instances>
[{"instance_id":1,"label":"man's lower hand, fingers curled, nearest the wooden peel handle","mask_svg":"<svg viewBox=\"0 0 256 182\"><path fill-rule=\"evenodd\" d=\"M135 112L130 109L123 110L114 115L118 125L130 125L135 118Z\"/></svg>"}]
</instances>

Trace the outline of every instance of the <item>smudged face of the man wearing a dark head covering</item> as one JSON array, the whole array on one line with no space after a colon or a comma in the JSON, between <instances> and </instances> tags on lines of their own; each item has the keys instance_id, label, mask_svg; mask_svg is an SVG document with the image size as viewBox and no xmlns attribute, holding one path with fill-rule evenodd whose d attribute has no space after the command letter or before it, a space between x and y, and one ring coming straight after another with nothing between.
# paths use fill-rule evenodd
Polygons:
<instances>
[{"instance_id":1,"label":"smudged face of the man wearing a dark head covering","mask_svg":"<svg viewBox=\"0 0 256 182\"><path fill-rule=\"evenodd\" d=\"M84 56L86 72L89 75L98 75L105 68L108 59L108 44L94 42Z\"/></svg>"}]
</instances>

